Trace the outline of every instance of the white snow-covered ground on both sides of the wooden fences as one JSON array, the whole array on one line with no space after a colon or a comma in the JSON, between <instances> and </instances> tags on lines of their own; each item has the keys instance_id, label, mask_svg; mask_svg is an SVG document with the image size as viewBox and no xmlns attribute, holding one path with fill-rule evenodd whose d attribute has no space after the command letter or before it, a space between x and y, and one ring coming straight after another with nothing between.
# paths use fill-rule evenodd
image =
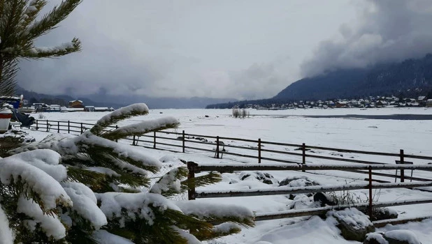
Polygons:
<instances>
[{"instance_id":1,"label":"white snow-covered ground on both sides of the wooden fences","mask_svg":"<svg viewBox=\"0 0 432 244\"><path fill-rule=\"evenodd\" d=\"M71 112L45 113L45 119L54 121L75 121L95 123L107 113ZM291 109L281 111L257 111L250 109L250 117L234 119L229 109L154 109L147 116L134 117L123 121L121 125L157 119L164 116L174 116L180 120L177 131L185 130L189 134L219 135L222 137L239 137L243 139L258 139L285 142L289 144L309 144L336 148L359 149L365 151L382 151L398 153L404 149L406 154L432 156L432 121L431 120L389 120L389 119L352 119L352 118L310 118L310 115L391 115L391 114L432 114L432 108L386 108L386 109ZM38 115L36 114L36 119ZM46 132L29 131L37 140L47 135ZM143 148L143 151L155 158L164 156L192 160L199 164L232 163L238 158L224 156L215 159L211 153L171 153ZM379 157L367 156L366 160L380 160ZM250 162L245 160L244 162ZM308 158L308 162L314 162ZM417 162L416 162L417 163ZM268 171L278 181L289 176L306 176L321 185L337 185L352 183L359 178L347 172L342 174L310 174L294 171ZM394 174L394 173L393 173ZM414 176L419 175L416 171ZM364 178L364 176L363 176ZM239 174L223 174L221 183L211 185L205 190L221 189L259 189L271 186L257 180L240 181ZM275 185L276 187L276 185ZM202 189L200 189L202 190ZM355 191L355 194L365 199L365 191ZM379 201L394 201L403 199L432 198L430 192L420 192L409 189L385 189L375 192ZM291 200L285 195L262 197L233 197L221 199L197 199L196 201L211 201L220 204L241 204L257 213L285 211L289 209ZM399 218L432 215L432 204L392 207L399 213ZM380 230L410 229L417 234L422 243L432 243L431 220L422 223L387 226ZM244 229L240 234L220 238L208 243L357 243L345 241L338 234L333 224L312 218L291 218L284 220L269 220L257 222L257 226Z\"/></svg>"}]
</instances>

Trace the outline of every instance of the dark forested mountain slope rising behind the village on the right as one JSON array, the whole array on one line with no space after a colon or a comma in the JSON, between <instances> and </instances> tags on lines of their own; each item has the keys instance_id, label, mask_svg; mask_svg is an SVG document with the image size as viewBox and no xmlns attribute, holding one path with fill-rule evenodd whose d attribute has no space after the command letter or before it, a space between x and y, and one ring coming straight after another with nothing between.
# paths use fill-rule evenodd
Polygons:
<instances>
[{"instance_id":1,"label":"dark forested mountain slope rising behind the village on the right","mask_svg":"<svg viewBox=\"0 0 432 244\"><path fill-rule=\"evenodd\" d=\"M431 89L432 54L422 59L377 65L366 69L336 70L301 79L283 89L274 99L308 100L397 95L409 89Z\"/></svg>"}]
</instances>

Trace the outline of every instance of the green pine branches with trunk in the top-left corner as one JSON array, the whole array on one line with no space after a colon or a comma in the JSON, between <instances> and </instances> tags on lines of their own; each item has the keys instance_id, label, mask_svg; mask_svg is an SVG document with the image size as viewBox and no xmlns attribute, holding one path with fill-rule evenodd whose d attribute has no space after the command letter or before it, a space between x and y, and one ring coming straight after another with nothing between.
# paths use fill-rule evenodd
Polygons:
<instances>
[{"instance_id":1,"label":"green pine branches with trunk in the top-left corner","mask_svg":"<svg viewBox=\"0 0 432 244\"><path fill-rule=\"evenodd\" d=\"M57 47L35 47L34 40L57 28L81 0L64 0L36 20L45 0L0 0L0 96L13 96L20 59L53 58L79 52L81 43L73 38Z\"/></svg>"}]
</instances>

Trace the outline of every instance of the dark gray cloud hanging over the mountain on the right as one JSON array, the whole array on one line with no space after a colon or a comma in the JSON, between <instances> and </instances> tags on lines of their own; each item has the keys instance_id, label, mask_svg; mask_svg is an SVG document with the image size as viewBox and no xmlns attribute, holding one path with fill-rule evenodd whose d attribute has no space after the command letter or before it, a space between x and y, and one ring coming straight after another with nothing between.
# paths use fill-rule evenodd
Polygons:
<instances>
[{"instance_id":1,"label":"dark gray cloud hanging over the mountain on the right","mask_svg":"<svg viewBox=\"0 0 432 244\"><path fill-rule=\"evenodd\" d=\"M357 2L358 3L358 2ZM359 20L340 26L340 35L319 43L301 74L419 58L432 52L432 1L368 0Z\"/></svg>"}]
</instances>

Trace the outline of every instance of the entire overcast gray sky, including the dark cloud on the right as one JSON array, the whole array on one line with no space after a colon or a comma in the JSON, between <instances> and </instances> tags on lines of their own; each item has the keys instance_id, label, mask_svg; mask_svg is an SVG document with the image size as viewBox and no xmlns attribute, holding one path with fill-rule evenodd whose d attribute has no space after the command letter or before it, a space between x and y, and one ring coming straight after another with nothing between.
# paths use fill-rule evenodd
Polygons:
<instances>
[{"instance_id":1,"label":"entire overcast gray sky, including the dark cloud on the right","mask_svg":"<svg viewBox=\"0 0 432 244\"><path fill-rule=\"evenodd\" d=\"M23 61L18 82L52 94L270 98L325 70L432 52L431 22L429 0L84 0L36 43L76 36L82 52Z\"/></svg>"}]
</instances>

